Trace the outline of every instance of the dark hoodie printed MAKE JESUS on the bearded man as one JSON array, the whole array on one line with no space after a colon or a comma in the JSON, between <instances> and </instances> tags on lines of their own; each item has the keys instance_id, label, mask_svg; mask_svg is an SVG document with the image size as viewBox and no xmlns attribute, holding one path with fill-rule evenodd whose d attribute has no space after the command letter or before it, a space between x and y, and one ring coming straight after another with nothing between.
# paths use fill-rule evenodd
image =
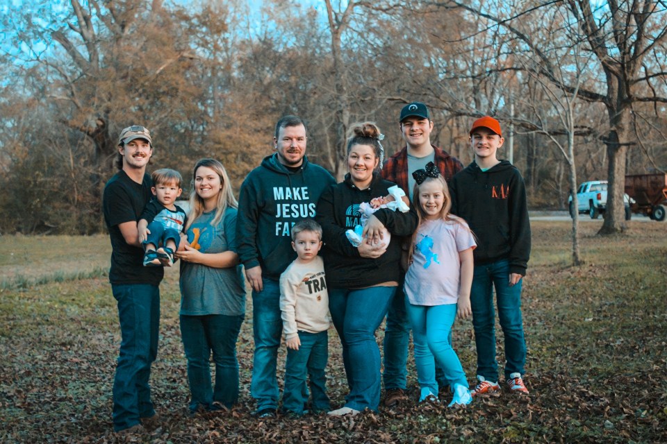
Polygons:
<instances>
[{"instance_id":1,"label":"dark hoodie printed MAKE JESUS on the bearded man","mask_svg":"<svg viewBox=\"0 0 667 444\"><path fill-rule=\"evenodd\" d=\"M304 163L288 170L277 153L264 157L241 185L236 219L238 256L245 268L262 267L262 277L279 280L297 257L292 225L313 218L320 194L336 182L329 171Z\"/></svg>"}]
</instances>

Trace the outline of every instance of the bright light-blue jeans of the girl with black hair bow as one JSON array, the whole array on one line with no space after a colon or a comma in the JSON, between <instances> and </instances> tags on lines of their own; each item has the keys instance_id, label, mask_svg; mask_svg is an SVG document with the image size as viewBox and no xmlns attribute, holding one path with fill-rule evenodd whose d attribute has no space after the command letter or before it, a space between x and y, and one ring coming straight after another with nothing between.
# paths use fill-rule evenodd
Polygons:
<instances>
[{"instance_id":1,"label":"bright light-blue jeans of the girl with black hair bow","mask_svg":"<svg viewBox=\"0 0 667 444\"><path fill-rule=\"evenodd\" d=\"M452 348L452 325L456 318L456 304L412 305L406 298L408 318L415 343L415 364L420 388L428 388L438 395L436 362L443 369L445 379L453 387L461 384L468 388L466 373Z\"/></svg>"}]
</instances>

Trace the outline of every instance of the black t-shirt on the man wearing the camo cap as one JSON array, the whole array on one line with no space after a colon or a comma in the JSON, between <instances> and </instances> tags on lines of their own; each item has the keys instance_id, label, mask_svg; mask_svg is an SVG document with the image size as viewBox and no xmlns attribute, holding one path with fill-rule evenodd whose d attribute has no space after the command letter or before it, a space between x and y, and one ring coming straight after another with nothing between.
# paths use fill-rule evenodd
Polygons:
<instances>
[{"instance_id":1,"label":"black t-shirt on the man wearing the camo cap","mask_svg":"<svg viewBox=\"0 0 667 444\"><path fill-rule=\"evenodd\" d=\"M151 176L147 174L138 184L121 170L106 182L102 207L113 250L109 271L112 284L159 285L164 276L161 266L143 266L144 250L128 245L118 228L121 223L138 221L151 197Z\"/></svg>"}]
</instances>

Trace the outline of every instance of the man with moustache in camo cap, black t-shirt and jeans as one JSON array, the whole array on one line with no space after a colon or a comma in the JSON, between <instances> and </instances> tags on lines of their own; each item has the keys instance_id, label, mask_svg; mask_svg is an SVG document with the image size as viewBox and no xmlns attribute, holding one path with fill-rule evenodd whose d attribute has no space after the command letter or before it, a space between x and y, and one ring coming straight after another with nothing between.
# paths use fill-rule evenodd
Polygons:
<instances>
[{"instance_id":1,"label":"man with moustache in camo cap, black t-shirt and jeans","mask_svg":"<svg viewBox=\"0 0 667 444\"><path fill-rule=\"evenodd\" d=\"M146 167L153 155L151 133L129 126L118 138L116 166L106 182L102 206L111 239L109 281L118 305L122 342L113 382L113 429L119 434L156 426L149 378L158 352L159 284L163 267L142 266L144 250L137 221L151 200L151 176Z\"/></svg>"}]
</instances>

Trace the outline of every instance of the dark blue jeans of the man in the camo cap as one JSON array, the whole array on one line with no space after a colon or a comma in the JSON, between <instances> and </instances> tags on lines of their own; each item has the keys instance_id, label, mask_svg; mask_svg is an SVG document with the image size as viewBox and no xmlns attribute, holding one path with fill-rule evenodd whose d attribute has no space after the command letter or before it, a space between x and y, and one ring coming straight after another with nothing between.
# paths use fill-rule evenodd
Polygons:
<instances>
[{"instance_id":1,"label":"dark blue jeans of the man in the camo cap","mask_svg":"<svg viewBox=\"0 0 667 444\"><path fill-rule=\"evenodd\" d=\"M113 429L118 432L155 414L148 381L158 355L160 287L112 284L111 291L122 336L113 380Z\"/></svg>"}]
</instances>

